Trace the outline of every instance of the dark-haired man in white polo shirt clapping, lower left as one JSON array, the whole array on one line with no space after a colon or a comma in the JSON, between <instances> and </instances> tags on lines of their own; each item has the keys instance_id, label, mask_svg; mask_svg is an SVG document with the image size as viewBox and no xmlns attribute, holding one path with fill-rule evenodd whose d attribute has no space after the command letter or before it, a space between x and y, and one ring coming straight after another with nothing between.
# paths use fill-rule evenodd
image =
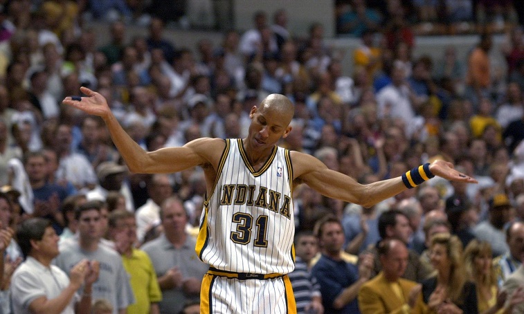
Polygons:
<instances>
[{"instance_id":1,"label":"dark-haired man in white polo shirt clapping, lower left","mask_svg":"<svg viewBox=\"0 0 524 314\"><path fill-rule=\"evenodd\" d=\"M47 219L24 221L17 230L17 239L26 261L12 277L15 313L91 313L93 283L98 280L100 270L98 261L75 261L69 277L51 265L60 253L58 236Z\"/></svg>"}]
</instances>

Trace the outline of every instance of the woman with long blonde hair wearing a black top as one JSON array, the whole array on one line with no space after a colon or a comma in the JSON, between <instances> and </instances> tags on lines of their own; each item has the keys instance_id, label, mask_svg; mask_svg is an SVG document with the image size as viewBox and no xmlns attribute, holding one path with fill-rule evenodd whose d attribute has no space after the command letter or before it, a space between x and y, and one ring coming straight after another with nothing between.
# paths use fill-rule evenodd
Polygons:
<instances>
[{"instance_id":1,"label":"woman with long blonde hair wearing a black top","mask_svg":"<svg viewBox=\"0 0 524 314\"><path fill-rule=\"evenodd\" d=\"M423 313L478 313L475 284L464 276L460 239L450 234L435 234L430 260L435 275L422 281Z\"/></svg>"}]
</instances>

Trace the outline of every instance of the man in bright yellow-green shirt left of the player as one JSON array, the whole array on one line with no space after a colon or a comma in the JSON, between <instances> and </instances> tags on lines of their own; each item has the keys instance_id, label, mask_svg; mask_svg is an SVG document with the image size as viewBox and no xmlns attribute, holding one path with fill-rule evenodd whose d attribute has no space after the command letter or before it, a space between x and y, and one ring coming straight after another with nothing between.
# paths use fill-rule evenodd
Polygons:
<instances>
[{"instance_id":1,"label":"man in bright yellow-green shirt left of the player","mask_svg":"<svg viewBox=\"0 0 524 314\"><path fill-rule=\"evenodd\" d=\"M127 308L127 313L159 313L162 293L151 259L143 250L134 248L136 219L132 212L116 210L109 214L109 238L122 257L136 299Z\"/></svg>"}]
</instances>

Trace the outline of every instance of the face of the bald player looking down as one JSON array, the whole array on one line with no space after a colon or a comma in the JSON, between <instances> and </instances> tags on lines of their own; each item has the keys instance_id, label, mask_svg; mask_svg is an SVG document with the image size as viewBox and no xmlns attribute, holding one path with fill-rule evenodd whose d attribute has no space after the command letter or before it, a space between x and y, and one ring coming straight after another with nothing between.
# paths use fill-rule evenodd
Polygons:
<instances>
[{"instance_id":1,"label":"face of the bald player looking down","mask_svg":"<svg viewBox=\"0 0 524 314\"><path fill-rule=\"evenodd\" d=\"M250 117L249 140L251 148L255 150L273 147L291 131L282 113L268 109L266 105L260 105L260 109L251 109Z\"/></svg>"}]
</instances>

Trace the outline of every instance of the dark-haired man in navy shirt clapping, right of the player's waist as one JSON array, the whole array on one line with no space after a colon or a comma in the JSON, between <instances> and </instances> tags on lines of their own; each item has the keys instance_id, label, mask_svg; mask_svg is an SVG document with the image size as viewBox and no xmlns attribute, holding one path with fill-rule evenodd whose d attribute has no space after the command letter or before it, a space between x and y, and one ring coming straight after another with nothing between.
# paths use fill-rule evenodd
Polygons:
<instances>
[{"instance_id":1,"label":"dark-haired man in navy shirt clapping, right of the player's waist","mask_svg":"<svg viewBox=\"0 0 524 314\"><path fill-rule=\"evenodd\" d=\"M334 216L325 216L318 223L318 241L322 256L311 273L320 284L322 303L326 313L359 313L356 295L371 277L373 259L363 255L359 266L341 258L344 232Z\"/></svg>"}]
</instances>

